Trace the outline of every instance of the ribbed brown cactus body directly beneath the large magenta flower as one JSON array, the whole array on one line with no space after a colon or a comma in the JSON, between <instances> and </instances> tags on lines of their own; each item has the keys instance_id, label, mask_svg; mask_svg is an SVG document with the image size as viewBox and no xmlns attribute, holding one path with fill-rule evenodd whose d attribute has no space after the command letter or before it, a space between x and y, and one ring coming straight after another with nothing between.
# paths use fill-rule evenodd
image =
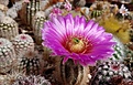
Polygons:
<instances>
[{"instance_id":1,"label":"ribbed brown cactus body directly beneath the large magenta flower","mask_svg":"<svg viewBox=\"0 0 133 85\"><path fill-rule=\"evenodd\" d=\"M68 60L65 64L60 59L56 59L56 61L54 75L58 85L87 85L88 66L75 65L73 60Z\"/></svg>"}]
</instances>

